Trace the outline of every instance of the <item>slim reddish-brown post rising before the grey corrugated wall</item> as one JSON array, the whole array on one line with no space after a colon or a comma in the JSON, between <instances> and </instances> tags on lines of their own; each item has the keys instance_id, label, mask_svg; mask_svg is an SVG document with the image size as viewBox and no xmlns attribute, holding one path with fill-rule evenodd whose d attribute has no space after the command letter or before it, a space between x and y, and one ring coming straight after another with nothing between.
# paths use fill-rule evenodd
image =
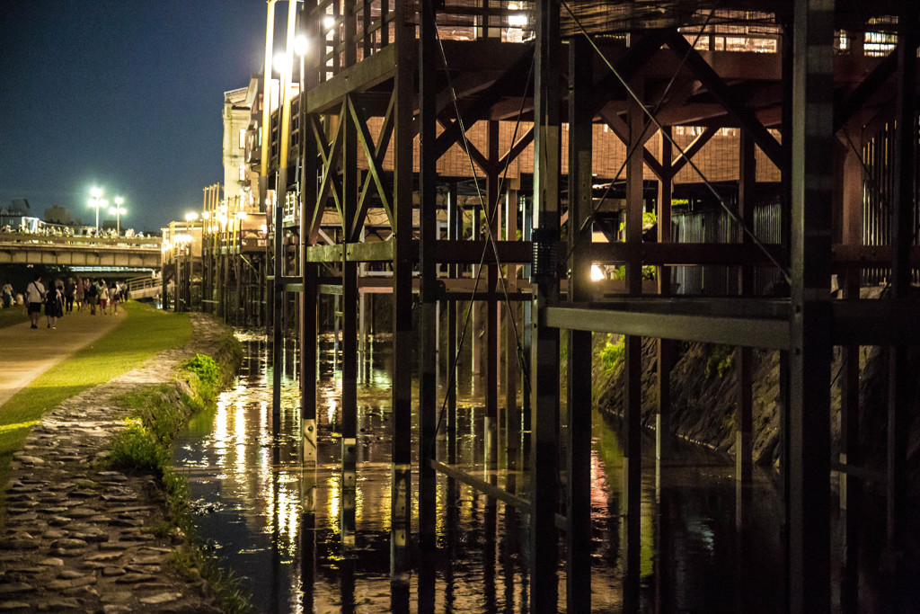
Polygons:
<instances>
[{"instance_id":1,"label":"slim reddish-brown post rising before the grey corrugated wall","mask_svg":"<svg viewBox=\"0 0 920 614\"><path fill-rule=\"evenodd\" d=\"M741 131L739 141L738 216L742 226L753 227L753 191L757 180L754 143L748 131ZM742 227L738 240L751 243ZM753 295L753 271L741 267L738 272L738 290L742 296ZM735 418L735 527L749 527L753 509L753 350L739 347L738 352L738 413Z\"/></svg>"}]
</instances>

